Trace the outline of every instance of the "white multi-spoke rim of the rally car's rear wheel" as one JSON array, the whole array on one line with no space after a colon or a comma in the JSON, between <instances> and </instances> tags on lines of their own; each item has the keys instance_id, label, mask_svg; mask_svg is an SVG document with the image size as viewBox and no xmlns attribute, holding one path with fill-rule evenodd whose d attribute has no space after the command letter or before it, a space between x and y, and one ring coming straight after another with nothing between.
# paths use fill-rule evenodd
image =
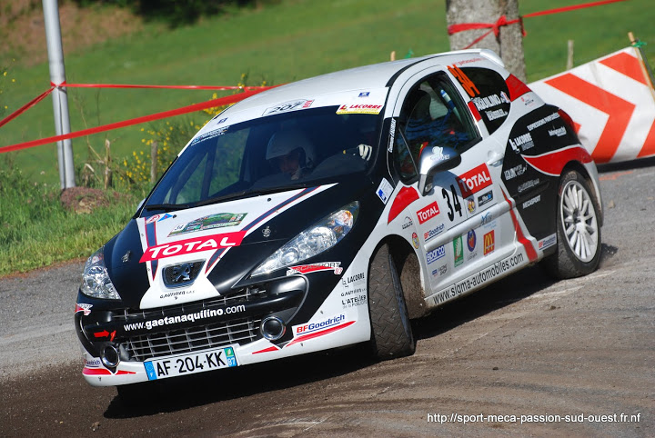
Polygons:
<instances>
[{"instance_id":1,"label":"white multi-spoke rim of the rally car's rear wheel","mask_svg":"<svg viewBox=\"0 0 655 438\"><path fill-rule=\"evenodd\" d=\"M587 190L577 181L569 181L564 187L560 214L573 254L584 263L593 260L599 244L596 210Z\"/></svg>"}]
</instances>

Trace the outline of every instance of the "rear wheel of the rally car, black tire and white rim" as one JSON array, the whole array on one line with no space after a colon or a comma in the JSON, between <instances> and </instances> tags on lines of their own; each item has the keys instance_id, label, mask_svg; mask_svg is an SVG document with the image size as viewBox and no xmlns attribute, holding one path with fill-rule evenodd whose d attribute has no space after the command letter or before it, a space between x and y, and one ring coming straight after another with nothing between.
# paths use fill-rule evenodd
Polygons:
<instances>
[{"instance_id":1,"label":"rear wheel of the rally car, black tire and white rim","mask_svg":"<svg viewBox=\"0 0 655 438\"><path fill-rule=\"evenodd\" d=\"M600 262L598 203L577 171L563 174L557 199L557 252L543 261L559 279L591 274Z\"/></svg>"}]
</instances>

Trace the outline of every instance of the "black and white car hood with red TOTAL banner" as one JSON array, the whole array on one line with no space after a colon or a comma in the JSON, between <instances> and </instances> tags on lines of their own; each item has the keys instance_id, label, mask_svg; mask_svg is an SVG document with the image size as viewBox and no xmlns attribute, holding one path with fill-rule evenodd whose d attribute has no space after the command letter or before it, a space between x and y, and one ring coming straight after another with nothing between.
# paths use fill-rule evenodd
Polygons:
<instances>
[{"instance_id":1,"label":"black and white car hood with red TOTAL banner","mask_svg":"<svg viewBox=\"0 0 655 438\"><path fill-rule=\"evenodd\" d=\"M107 272L131 308L229 294L277 248L358 199L351 187L369 190L370 183L362 183L318 185L133 219L106 244Z\"/></svg>"}]
</instances>

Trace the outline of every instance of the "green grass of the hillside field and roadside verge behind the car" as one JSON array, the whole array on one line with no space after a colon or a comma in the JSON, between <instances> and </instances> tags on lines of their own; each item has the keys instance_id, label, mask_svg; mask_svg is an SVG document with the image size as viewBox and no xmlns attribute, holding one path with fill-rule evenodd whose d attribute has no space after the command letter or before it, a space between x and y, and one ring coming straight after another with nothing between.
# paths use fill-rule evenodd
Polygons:
<instances>
[{"instance_id":1,"label":"green grass of the hillside field and roadside verge behind the car","mask_svg":"<svg viewBox=\"0 0 655 438\"><path fill-rule=\"evenodd\" d=\"M583 1L522 0L520 11L529 14L579 3ZM262 80L287 83L387 61L391 51L398 57L410 51L415 56L447 51L445 11L444 0L283 0L173 31L146 24L134 35L84 51L70 53L64 47L66 79L69 84L236 85L241 75L248 73L249 85L259 85ZM575 42L575 62L579 65L630 45L627 33L632 31L650 43L644 49L654 65L653 15L652 0L630 0L526 19L529 82L565 69L569 39ZM48 65L28 61L0 55L0 66L9 68L7 76L0 72L0 116L5 105L8 114L49 87ZM68 96L72 129L76 131L206 101L211 92L70 88ZM48 98L0 127L0 146L54 135L52 111ZM76 165L86 160L87 142L103 151L106 137L111 140L115 161L134 151L147 151L141 129L164 123L74 139ZM56 193L59 176L54 144L11 155L26 182L39 187L46 184L45 190ZM0 274L86 257L120 230L134 208L129 204L76 215L57 208L56 202L45 202L42 208L47 214L41 214L41 207L24 210L20 193L7 190L0 198ZM34 197L35 203L37 199Z\"/></svg>"}]
</instances>

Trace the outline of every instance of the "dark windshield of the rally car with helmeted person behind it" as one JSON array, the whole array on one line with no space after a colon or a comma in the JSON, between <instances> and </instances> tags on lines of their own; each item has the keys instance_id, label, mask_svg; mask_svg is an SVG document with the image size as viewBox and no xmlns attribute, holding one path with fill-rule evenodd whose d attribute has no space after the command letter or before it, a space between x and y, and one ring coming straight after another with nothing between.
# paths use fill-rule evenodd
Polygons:
<instances>
[{"instance_id":1,"label":"dark windshield of the rally car with helmeted person behind it","mask_svg":"<svg viewBox=\"0 0 655 438\"><path fill-rule=\"evenodd\" d=\"M366 172L381 116L338 114L338 108L269 115L196 138L157 184L146 209L211 204Z\"/></svg>"}]
</instances>

